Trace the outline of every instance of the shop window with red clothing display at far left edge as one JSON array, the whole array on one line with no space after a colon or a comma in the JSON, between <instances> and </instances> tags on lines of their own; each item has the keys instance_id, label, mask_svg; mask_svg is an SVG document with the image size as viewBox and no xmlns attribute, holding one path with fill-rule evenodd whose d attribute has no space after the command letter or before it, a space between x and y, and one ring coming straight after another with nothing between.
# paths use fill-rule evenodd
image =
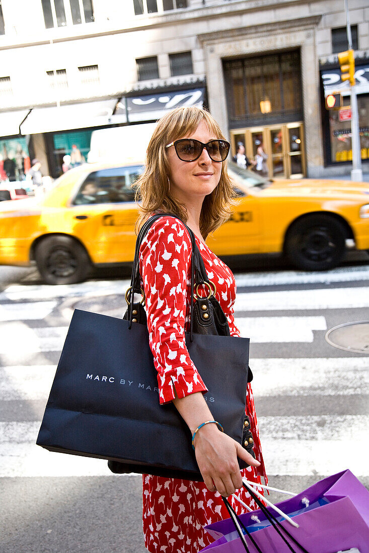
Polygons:
<instances>
[{"instance_id":1,"label":"shop window with red clothing display at far left edge","mask_svg":"<svg viewBox=\"0 0 369 553\"><path fill-rule=\"evenodd\" d=\"M29 169L29 152L25 138L0 140L0 180L24 180Z\"/></svg>"}]
</instances>

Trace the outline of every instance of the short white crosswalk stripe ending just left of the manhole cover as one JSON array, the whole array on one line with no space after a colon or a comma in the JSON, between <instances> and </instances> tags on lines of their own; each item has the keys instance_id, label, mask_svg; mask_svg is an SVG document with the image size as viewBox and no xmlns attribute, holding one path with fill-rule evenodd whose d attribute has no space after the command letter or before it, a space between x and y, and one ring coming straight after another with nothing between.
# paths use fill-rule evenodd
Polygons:
<instances>
[{"instance_id":1,"label":"short white crosswalk stripe ending just left of the manhole cover","mask_svg":"<svg viewBox=\"0 0 369 553\"><path fill-rule=\"evenodd\" d=\"M313 330L326 330L325 317L235 317L241 336L252 343L314 342Z\"/></svg>"}]
</instances>

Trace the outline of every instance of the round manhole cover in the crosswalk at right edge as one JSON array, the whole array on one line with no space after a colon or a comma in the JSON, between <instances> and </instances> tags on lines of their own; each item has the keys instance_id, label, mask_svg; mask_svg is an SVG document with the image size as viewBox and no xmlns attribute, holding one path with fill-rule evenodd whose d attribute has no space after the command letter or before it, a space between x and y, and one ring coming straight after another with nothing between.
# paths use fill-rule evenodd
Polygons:
<instances>
[{"instance_id":1,"label":"round manhole cover in the crosswalk at right edge","mask_svg":"<svg viewBox=\"0 0 369 553\"><path fill-rule=\"evenodd\" d=\"M335 326L326 333L325 339L333 347L369 354L369 321L346 322Z\"/></svg>"}]
</instances>

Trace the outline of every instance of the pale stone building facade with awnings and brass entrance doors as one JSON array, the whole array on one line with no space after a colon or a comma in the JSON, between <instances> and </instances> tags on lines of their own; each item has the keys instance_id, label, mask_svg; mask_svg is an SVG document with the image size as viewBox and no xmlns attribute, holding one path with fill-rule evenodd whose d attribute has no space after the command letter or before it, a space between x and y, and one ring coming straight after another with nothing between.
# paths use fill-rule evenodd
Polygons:
<instances>
[{"instance_id":1,"label":"pale stone building facade with awnings and brass entrance doors","mask_svg":"<svg viewBox=\"0 0 369 553\"><path fill-rule=\"evenodd\" d=\"M73 144L87 157L96 128L205 105L233 154L239 143L250 158L264 148L270 177L350 173L350 121L325 108L333 90L350 103L337 59L343 0L29 0L22 13L17 4L0 1L0 162L37 156L58 176ZM349 9L366 170L368 2Z\"/></svg>"}]
</instances>

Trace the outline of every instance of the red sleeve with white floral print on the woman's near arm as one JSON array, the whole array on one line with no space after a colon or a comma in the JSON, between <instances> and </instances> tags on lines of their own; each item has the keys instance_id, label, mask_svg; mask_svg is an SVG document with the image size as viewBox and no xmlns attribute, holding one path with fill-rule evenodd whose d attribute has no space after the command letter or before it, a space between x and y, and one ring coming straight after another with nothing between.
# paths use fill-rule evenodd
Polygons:
<instances>
[{"instance_id":1,"label":"red sleeve with white floral print on the woman's near arm","mask_svg":"<svg viewBox=\"0 0 369 553\"><path fill-rule=\"evenodd\" d=\"M166 216L152 225L140 248L149 342L161 404L175 399L175 391L178 398L208 391L184 338L191 248L183 223Z\"/></svg>"}]
</instances>

